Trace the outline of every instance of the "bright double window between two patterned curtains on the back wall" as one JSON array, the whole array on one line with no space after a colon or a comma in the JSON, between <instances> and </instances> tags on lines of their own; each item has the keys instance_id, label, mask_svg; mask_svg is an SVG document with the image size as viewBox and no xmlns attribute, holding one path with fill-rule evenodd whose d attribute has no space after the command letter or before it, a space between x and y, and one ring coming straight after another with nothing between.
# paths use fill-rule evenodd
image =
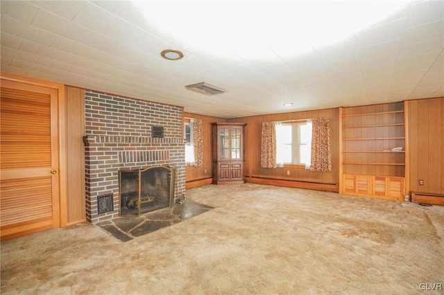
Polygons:
<instances>
[{"instance_id":1,"label":"bright double window between two patterned curtains on the back wall","mask_svg":"<svg viewBox=\"0 0 444 295\"><path fill-rule=\"evenodd\" d=\"M276 162L309 167L311 120L276 123Z\"/></svg>"}]
</instances>

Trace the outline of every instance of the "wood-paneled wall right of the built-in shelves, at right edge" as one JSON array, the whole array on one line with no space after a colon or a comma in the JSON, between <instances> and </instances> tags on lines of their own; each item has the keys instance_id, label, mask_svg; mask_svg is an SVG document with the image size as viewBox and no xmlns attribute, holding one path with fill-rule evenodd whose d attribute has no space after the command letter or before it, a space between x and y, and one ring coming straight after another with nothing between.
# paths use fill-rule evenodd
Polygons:
<instances>
[{"instance_id":1,"label":"wood-paneled wall right of the built-in shelves, at right edge","mask_svg":"<svg viewBox=\"0 0 444 295\"><path fill-rule=\"evenodd\" d=\"M408 190L444 194L444 98L408 100L407 107Z\"/></svg>"}]
</instances>

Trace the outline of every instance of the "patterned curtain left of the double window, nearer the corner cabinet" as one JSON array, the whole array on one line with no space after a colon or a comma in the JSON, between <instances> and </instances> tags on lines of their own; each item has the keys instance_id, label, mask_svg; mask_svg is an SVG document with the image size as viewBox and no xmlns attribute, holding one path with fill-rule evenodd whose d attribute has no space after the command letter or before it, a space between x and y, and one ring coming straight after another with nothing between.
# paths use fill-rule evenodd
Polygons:
<instances>
[{"instance_id":1,"label":"patterned curtain left of the double window, nearer the corner cabinet","mask_svg":"<svg viewBox=\"0 0 444 295\"><path fill-rule=\"evenodd\" d=\"M274 122L262 122L261 167L276 168L276 127Z\"/></svg>"}]
</instances>

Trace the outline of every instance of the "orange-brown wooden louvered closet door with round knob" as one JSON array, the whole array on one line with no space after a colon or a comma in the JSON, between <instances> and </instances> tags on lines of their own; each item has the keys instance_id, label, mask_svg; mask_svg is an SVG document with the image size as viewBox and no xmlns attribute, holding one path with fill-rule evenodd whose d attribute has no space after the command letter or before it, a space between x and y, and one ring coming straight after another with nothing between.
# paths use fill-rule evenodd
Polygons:
<instances>
[{"instance_id":1,"label":"orange-brown wooden louvered closet door with round knob","mask_svg":"<svg viewBox=\"0 0 444 295\"><path fill-rule=\"evenodd\" d=\"M60 226L57 103L56 89L1 80L2 240Z\"/></svg>"}]
</instances>

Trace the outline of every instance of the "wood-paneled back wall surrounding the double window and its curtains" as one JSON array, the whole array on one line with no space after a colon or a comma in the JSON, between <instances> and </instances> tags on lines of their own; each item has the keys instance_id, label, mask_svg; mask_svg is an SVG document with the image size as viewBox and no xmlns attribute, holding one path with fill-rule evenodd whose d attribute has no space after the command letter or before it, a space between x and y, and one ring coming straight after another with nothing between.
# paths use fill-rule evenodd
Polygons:
<instances>
[{"instance_id":1,"label":"wood-paneled back wall surrounding the double window and its curtains","mask_svg":"<svg viewBox=\"0 0 444 295\"><path fill-rule=\"evenodd\" d=\"M262 122L281 120L302 120L310 118L330 118L330 142L332 145L332 171L311 172L304 168L261 168L261 132ZM299 111L284 114L269 114L230 119L229 122L247 123L244 135L246 177L266 179L286 179L292 181L309 181L320 184L339 183L339 109L321 109L316 111ZM289 171L289 175L287 175Z\"/></svg>"}]
</instances>

